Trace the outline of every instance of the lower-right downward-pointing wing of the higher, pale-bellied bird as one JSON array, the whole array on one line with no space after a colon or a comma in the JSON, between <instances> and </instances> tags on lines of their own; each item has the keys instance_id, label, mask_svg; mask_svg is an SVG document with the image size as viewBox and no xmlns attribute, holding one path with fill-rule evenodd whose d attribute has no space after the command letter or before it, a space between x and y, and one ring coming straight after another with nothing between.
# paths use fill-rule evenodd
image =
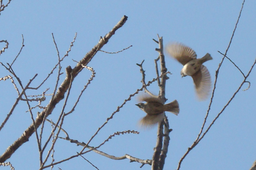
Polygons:
<instances>
[{"instance_id":1,"label":"lower-right downward-pointing wing of the higher, pale-bellied bird","mask_svg":"<svg viewBox=\"0 0 256 170\"><path fill-rule=\"evenodd\" d=\"M211 89L211 75L206 68L202 65L201 69L197 73L191 76L194 80L195 90L199 100L206 100L209 96Z\"/></svg>"}]
</instances>

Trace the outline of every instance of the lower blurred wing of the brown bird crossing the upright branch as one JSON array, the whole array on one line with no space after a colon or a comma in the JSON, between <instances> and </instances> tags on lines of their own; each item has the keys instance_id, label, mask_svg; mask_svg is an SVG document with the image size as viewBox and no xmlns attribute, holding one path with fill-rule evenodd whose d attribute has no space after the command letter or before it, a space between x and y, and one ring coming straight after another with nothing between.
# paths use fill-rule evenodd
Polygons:
<instances>
[{"instance_id":1,"label":"lower blurred wing of the brown bird crossing the upright branch","mask_svg":"<svg viewBox=\"0 0 256 170\"><path fill-rule=\"evenodd\" d=\"M143 117L141 119L139 124L141 124L141 126L144 126L144 127L153 126L154 124L156 124L158 122L161 122L164 117L165 117L164 113L155 114L155 115L148 115L147 114L145 117Z\"/></svg>"}]
</instances>

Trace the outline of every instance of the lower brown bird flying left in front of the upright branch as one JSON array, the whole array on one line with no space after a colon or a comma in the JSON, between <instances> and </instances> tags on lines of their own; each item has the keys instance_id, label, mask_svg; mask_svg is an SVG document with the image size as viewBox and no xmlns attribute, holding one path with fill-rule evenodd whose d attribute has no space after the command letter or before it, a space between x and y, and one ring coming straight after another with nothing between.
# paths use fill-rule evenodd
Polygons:
<instances>
[{"instance_id":1,"label":"lower brown bird flying left in front of the upright branch","mask_svg":"<svg viewBox=\"0 0 256 170\"><path fill-rule=\"evenodd\" d=\"M144 96L141 97L141 101L146 103L135 104L141 110L147 113L145 117L139 122L141 126L152 126L158 122L161 122L165 116L166 112L171 112L175 115L178 115L180 112L178 101L174 100L168 104L162 104L159 98Z\"/></svg>"}]
</instances>

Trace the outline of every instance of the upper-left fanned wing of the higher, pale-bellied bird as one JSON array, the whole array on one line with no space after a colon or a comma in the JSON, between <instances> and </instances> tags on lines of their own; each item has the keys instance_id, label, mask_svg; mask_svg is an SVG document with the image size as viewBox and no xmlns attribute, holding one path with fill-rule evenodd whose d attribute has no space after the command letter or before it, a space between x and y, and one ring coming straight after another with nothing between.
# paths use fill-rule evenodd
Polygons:
<instances>
[{"instance_id":1,"label":"upper-left fanned wing of the higher, pale-bellied bird","mask_svg":"<svg viewBox=\"0 0 256 170\"><path fill-rule=\"evenodd\" d=\"M166 46L166 51L182 65L185 65L190 60L197 58L197 54L193 49L180 43L168 44Z\"/></svg>"}]
</instances>

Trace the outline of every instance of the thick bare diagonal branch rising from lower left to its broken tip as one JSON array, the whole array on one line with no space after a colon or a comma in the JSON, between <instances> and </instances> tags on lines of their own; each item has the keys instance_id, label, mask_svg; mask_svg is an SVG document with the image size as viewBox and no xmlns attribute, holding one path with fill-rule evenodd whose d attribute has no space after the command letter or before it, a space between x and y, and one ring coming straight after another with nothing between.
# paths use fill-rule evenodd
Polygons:
<instances>
[{"instance_id":1,"label":"thick bare diagonal branch rising from lower left to its broken tip","mask_svg":"<svg viewBox=\"0 0 256 170\"><path fill-rule=\"evenodd\" d=\"M78 73L82 71L83 66L86 66L91 61L97 51L100 50L108 42L109 38L111 38L112 35L115 34L115 31L117 31L117 29L124 25L127 18L127 16L123 16L121 20L117 23L117 25L113 27L113 29L108 34L106 34L103 38L100 38L98 44L93 49L91 49L91 51L89 51L89 53L87 53L82 60L80 60L80 62L76 65L74 69L72 69L70 66L66 68L67 77L59 87L56 95L54 95L50 103L47 105L46 109L37 115L37 118L35 119L35 124L32 123L19 137L19 139L11 144L11 146L7 148L4 154L0 156L0 163L5 162L23 143L28 141L30 136L35 132L35 128L37 129L41 125L44 117L50 115L54 110L56 104L58 104L58 102L64 98L64 94L69 87L70 81L74 80ZM70 79L70 73L72 74L72 79Z\"/></svg>"}]
</instances>

